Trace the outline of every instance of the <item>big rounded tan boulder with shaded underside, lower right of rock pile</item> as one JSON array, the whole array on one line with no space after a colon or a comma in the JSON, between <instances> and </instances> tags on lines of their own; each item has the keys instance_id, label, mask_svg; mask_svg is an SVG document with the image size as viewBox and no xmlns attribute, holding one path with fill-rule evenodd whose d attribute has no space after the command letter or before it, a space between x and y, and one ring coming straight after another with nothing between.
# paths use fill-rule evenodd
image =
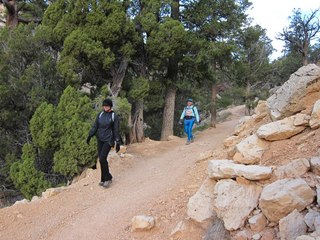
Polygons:
<instances>
[{"instance_id":1,"label":"big rounded tan boulder with shaded underside, lower right of rock pile","mask_svg":"<svg viewBox=\"0 0 320 240\"><path fill-rule=\"evenodd\" d=\"M269 221L277 222L294 209L303 210L314 195L303 179L282 179L263 188L259 206Z\"/></svg>"}]
</instances>

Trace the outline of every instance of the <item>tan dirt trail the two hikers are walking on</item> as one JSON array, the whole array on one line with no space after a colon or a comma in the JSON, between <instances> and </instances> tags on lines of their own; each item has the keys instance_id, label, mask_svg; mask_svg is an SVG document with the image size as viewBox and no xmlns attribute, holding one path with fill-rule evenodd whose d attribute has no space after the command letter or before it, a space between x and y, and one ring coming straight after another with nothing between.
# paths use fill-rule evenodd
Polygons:
<instances>
[{"instance_id":1,"label":"tan dirt trail the two hikers are walking on","mask_svg":"<svg viewBox=\"0 0 320 240\"><path fill-rule=\"evenodd\" d=\"M0 239L170 239L172 229L186 218L188 199L206 177L207 163L197 161L200 153L222 149L243 108L233 114L233 120L197 133L188 146L185 138L130 146L127 152L133 157L111 163L109 189L98 186L100 170L94 170L56 196L0 209ZM156 227L132 233L131 219L140 214L154 216ZM200 239L202 231L194 228L189 239Z\"/></svg>"}]
</instances>

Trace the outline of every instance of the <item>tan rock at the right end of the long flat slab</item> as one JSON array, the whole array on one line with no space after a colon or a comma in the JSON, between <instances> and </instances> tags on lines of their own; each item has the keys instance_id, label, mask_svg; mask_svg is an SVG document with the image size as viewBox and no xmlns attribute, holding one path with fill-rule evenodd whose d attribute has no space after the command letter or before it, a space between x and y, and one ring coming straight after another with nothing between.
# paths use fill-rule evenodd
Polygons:
<instances>
[{"instance_id":1,"label":"tan rock at the right end of the long flat slab","mask_svg":"<svg viewBox=\"0 0 320 240\"><path fill-rule=\"evenodd\" d=\"M309 169L310 163L308 159L295 159L284 166L277 167L274 170L274 175L277 179L299 178L307 173Z\"/></svg>"}]
</instances>

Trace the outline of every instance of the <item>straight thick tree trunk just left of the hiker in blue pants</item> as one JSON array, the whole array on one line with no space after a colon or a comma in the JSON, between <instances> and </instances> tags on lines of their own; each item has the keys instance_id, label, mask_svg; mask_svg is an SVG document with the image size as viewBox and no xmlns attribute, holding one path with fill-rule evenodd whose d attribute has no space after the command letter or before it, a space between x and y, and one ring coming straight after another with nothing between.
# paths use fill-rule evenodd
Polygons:
<instances>
[{"instance_id":1,"label":"straight thick tree trunk just left of the hiker in blue pants","mask_svg":"<svg viewBox=\"0 0 320 240\"><path fill-rule=\"evenodd\" d=\"M161 141L167 141L173 135L174 108L177 88L170 85L166 90L165 105L163 109Z\"/></svg>"}]
</instances>

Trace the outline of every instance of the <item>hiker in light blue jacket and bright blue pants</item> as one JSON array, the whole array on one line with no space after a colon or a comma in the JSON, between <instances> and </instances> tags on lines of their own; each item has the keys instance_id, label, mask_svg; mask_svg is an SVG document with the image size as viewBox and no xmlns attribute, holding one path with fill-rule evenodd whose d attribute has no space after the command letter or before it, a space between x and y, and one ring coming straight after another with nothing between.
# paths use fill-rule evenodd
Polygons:
<instances>
[{"instance_id":1,"label":"hiker in light blue jacket and bright blue pants","mask_svg":"<svg viewBox=\"0 0 320 240\"><path fill-rule=\"evenodd\" d=\"M193 106L192 98L187 100L187 106L183 109L183 112L180 117L179 124L184 124L184 131L188 135L188 140L186 145L189 145L190 142L193 142L194 137L192 135L192 128L195 122L200 122L200 117L197 107Z\"/></svg>"}]
</instances>

